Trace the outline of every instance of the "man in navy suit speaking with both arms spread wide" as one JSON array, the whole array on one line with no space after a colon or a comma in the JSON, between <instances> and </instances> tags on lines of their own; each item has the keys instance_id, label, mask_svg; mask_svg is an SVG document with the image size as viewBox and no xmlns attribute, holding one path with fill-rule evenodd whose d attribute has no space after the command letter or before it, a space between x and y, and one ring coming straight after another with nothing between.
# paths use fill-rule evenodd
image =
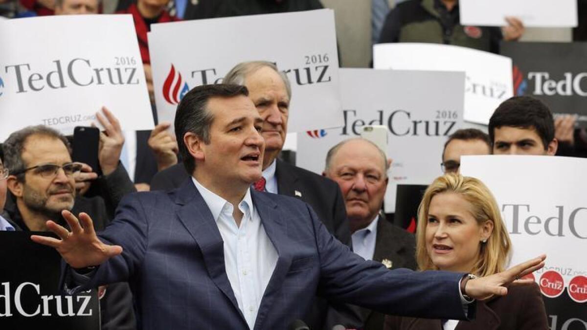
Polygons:
<instances>
[{"instance_id":1,"label":"man in navy suit speaking with both arms spread wide","mask_svg":"<svg viewBox=\"0 0 587 330\"><path fill-rule=\"evenodd\" d=\"M181 100L176 135L193 176L177 190L125 197L100 239L87 214L77 220L69 211L71 231L48 221L59 239L32 236L73 268L70 293L128 281L143 329L282 329L316 294L387 314L465 319L475 307L467 299L504 295L502 285L544 265L542 256L472 279L363 260L308 204L251 188L265 142L247 95L246 87L219 84Z\"/></svg>"}]
</instances>

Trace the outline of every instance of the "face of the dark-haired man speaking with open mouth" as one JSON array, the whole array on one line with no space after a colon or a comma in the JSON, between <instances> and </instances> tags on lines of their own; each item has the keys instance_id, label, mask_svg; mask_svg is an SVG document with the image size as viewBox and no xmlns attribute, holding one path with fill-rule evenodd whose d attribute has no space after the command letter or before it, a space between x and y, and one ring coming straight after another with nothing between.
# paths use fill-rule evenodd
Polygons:
<instances>
[{"instance_id":1,"label":"face of the dark-haired man speaking with open mouth","mask_svg":"<svg viewBox=\"0 0 587 330\"><path fill-rule=\"evenodd\" d=\"M221 183L259 180L265 145L260 133L263 119L251 100L246 96L212 97L207 109L214 117L210 143L201 144L204 161L197 169Z\"/></svg>"}]
</instances>

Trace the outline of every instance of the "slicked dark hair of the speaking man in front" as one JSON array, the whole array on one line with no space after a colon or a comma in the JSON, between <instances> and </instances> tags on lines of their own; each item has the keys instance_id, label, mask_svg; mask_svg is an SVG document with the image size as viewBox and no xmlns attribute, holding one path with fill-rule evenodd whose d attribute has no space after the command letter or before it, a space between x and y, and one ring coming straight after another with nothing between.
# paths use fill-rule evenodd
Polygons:
<instances>
[{"instance_id":1,"label":"slicked dark hair of the speaking man in front","mask_svg":"<svg viewBox=\"0 0 587 330\"><path fill-rule=\"evenodd\" d=\"M208 100L212 97L235 97L241 95L249 95L247 87L219 83L194 87L181 99L176 112L176 137L185 170L190 175L194 172L195 161L183 142L185 133L194 133L204 143L210 143L210 126L212 126L214 116L207 109Z\"/></svg>"}]
</instances>

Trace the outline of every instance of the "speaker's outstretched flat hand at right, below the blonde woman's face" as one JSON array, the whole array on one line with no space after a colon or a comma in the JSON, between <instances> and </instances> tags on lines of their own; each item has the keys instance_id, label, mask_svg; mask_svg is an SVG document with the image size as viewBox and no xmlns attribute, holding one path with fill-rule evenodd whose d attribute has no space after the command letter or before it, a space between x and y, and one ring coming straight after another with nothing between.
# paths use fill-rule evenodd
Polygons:
<instances>
[{"instance_id":1,"label":"speaker's outstretched flat hand at right, below the blonde woman's face","mask_svg":"<svg viewBox=\"0 0 587 330\"><path fill-rule=\"evenodd\" d=\"M534 282L534 280L522 279L522 277L544 267L545 259L546 255L543 254L538 258L515 265L506 271L469 280L465 284L463 294L477 300L489 299L494 295L507 295L509 285L531 284Z\"/></svg>"}]
</instances>

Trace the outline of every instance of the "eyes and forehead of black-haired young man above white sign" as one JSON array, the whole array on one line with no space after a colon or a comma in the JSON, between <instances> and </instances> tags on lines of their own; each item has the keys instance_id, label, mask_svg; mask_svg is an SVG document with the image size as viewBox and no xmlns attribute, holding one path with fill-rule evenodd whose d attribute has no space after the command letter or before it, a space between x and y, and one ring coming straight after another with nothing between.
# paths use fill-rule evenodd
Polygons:
<instances>
[{"instance_id":1,"label":"eyes and forehead of black-haired young man above white sign","mask_svg":"<svg viewBox=\"0 0 587 330\"><path fill-rule=\"evenodd\" d=\"M494 129L494 154L531 154L552 156L556 153L558 143L552 140L545 148L542 139L534 127L502 126Z\"/></svg>"}]
</instances>

